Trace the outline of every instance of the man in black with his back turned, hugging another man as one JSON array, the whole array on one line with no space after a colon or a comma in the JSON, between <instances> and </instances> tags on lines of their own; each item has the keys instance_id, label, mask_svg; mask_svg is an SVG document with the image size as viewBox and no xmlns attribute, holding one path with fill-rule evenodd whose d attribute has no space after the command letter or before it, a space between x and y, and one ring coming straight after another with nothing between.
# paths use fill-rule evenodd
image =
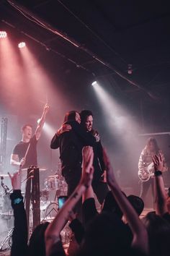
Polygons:
<instances>
[{"instance_id":1,"label":"man in black with his back turned, hugging another man","mask_svg":"<svg viewBox=\"0 0 170 256\"><path fill-rule=\"evenodd\" d=\"M65 116L63 128L55 133L50 143L50 148L60 150L61 170L68 184L68 196L81 179L82 148L85 145L93 146L95 143L94 137L86 134L80 122L79 113L69 111Z\"/></svg>"}]
</instances>

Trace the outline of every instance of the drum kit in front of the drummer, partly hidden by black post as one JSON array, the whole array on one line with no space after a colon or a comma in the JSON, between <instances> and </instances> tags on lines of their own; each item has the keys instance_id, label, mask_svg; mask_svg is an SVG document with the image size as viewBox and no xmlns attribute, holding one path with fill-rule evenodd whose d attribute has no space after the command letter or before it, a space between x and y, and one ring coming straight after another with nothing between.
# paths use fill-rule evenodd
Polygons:
<instances>
[{"instance_id":1,"label":"drum kit in front of the drummer, partly hidden by black post","mask_svg":"<svg viewBox=\"0 0 170 256\"><path fill-rule=\"evenodd\" d=\"M27 171L27 168L22 169L22 171ZM46 168L39 168L39 171L46 171ZM0 250L5 247L11 247L11 235L14 225L14 215L11 206L11 200L9 199L12 190L4 184L4 178L9 177L8 174L0 174L1 187L3 192L0 192L0 220L7 221L8 234L5 239L1 242ZM28 178L30 179L31 176ZM27 180L27 179L25 179ZM24 181L25 181L24 180ZM23 182L24 182L23 181ZM67 194L67 184L61 171L57 171L55 175L48 176L44 182L43 187L40 189L40 221L41 223L45 221L53 221L56 214L58 213L58 197ZM24 197L24 193L22 193ZM10 221L10 223L9 223ZM32 223L32 208L30 208L30 223ZM68 241L70 233L68 227L63 231L63 235L66 239L65 243ZM10 238L10 239L9 239ZM63 241L64 242L64 241Z\"/></svg>"}]
</instances>

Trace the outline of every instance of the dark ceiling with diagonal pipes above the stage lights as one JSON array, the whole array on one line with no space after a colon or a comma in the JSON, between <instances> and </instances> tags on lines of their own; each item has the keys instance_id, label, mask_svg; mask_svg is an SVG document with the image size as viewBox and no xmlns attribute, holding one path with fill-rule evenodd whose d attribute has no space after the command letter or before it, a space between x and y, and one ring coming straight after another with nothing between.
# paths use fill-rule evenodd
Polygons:
<instances>
[{"instance_id":1,"label":"dark ceiling with diagonal pipes above the stage lights","mask_svg":"<svg viewBox=\"0 0 170 256\"><path fill-rule=\"evenodd\" d=\"M97 77L109 82L126 101L138 104L142 100L144 111L152 107L151 114L168 111L169 1L0 3L1 26L32 40L35 48L41 45L53 62L61 59L62 74L72 73L79 80L87 77L91 82ZM128 64L132 74L128 74ZM168 112L166 122L167 116Z\"/></svg>"}]
</instances>

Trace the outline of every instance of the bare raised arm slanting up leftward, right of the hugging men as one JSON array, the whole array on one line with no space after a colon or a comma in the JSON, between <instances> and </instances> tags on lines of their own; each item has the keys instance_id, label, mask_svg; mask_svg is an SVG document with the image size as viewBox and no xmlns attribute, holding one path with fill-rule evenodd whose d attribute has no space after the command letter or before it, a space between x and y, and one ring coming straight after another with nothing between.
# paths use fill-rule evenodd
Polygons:
<instances>
[{"instance_id":1,"label":"bare raised arm slanting up leftward, right of the hugging men","mask_svg":"<svg viewBox=\"0 0 170 256\"><path fill-rule=\"evenodd\" d=\"M122 213L128 220L130 229L133 232L132 247L140 249L141 252L148 254L148 234L146 228L138 218L138 215L135 212L133 206L130 205L130 202L128 202L128 199L125 197L125 195L122 194L122 191L116 182L112 166L109 163L109 159L107 158L105 152L104 162L107 170L107 182L109 187L111 188L112 194L114 195L117 204L120 206Z\"/></svg>"}]
</instances>

